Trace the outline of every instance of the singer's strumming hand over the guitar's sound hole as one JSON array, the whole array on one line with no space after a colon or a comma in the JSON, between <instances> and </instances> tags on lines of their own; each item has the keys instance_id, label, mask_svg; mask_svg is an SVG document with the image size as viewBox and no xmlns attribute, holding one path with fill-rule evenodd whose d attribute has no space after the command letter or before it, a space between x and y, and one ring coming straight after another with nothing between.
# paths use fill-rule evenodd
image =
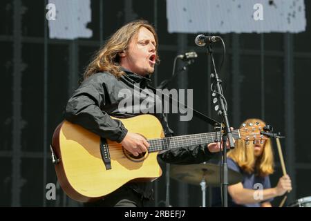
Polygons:
<instances>
[{"instance_id":1,"label":"singer's strumming hand over the guitar's sound hole","mask_svg":"<svg viewBox=\"0 0 311 221\"><path fill-rule=\"evenodd\" d=\"M150 144L147 142L142 135L137 133L126 133L126 136L121 142L122 146L126 148L131 154L137 157L140 153L146 152Z\"/></svg>"}]
</instances>

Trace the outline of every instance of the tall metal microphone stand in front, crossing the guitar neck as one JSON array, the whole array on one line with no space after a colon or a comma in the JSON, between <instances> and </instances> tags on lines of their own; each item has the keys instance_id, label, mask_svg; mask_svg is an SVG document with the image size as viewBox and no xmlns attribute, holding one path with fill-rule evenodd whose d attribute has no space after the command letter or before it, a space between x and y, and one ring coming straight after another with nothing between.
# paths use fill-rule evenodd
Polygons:
<instances>
[{"instance_id":1,"label":"tall metal microphone stand in front, crossing the guitar neck","mask_svg":"<svg viewBox=\"0 0 311 221\"><path fill-rule=\"evenodd\" d=\"M223 207L228 206L228 192L227 192L227 187L228 187L228 166L227 166L227 144L226 140L228 139L229 142L229 147L234 148L234 141L232 138L232 131L229 126L229 120L228 120L228 115L227 115L227 107L225 106L225 97L223 95L223 88L221 86L221 80L218 77L216 66L215 66L215 61L214 61L214 56L213 56L213 49L211 48L211 42L207 44L207 52L209 53L211 57L211 64L214 68L214 73L211 73L211 79L214 80L216 83L216 90L214 92L216 93L216 96L218 96L218 105L220 110L218 111L218 115L221 115L223 118L223 124L222 127L225 128L225 133L223 133L223 130L220 130L220 136L223 135L223 161L221 162L221 171L223 173L223 179L221 182L221 189L223 193ZM217 110L216 110L217 111ZM221 139L220 139L221 140ZM219 142L219 141L218 141ZM221 142L220 142L220 146Z\"/></svg>"}]
</instances>

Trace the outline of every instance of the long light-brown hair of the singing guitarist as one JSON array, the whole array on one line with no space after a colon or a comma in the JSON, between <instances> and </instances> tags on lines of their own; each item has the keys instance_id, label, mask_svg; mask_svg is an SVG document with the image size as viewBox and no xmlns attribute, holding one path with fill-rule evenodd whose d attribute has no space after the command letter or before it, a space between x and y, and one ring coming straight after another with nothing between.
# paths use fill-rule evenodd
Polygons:
<instances>
[{"instance_id":1,"label":"long light-brown hair of the singing guitarist","mask_svg":"<svg viewBox=\"0 0 311 221\"><path fill-rule=\"evenodd\" d=\"M97 51L91 63L86 67L84 79L98 72L109 72L115 77L124 75L124 71L120 70L120 57L118 54L127 49L131 39L138 35L138 31L142 27L150 30L156 40L156 61L158 62L158 36L156 30L148 21L135 20L118 29L106 41L106 44Z\"/></svg>"}]
</instances>

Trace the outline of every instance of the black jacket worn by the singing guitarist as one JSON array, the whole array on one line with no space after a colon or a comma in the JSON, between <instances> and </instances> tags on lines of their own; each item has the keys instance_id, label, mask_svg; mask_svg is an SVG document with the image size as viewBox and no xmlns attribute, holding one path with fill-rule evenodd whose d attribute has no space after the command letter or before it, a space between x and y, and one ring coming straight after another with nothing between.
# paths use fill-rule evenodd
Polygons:
<instances>
[{"instance_id":1,"label":"black jacket worn by the singing guitarist","mask_svg":"<svg viewBox=\"0 0 311 221\"><path fill-rule=\"evenodd\" d=\"M147 109L154 108L153 106L142 107L140 104L144 98L141 96L140 104L137 104L137 102L135 104L134 102L134 86L136 88L139 86L140 89L149 88L149 77L142 77L127 70L124 71L126 75L123 75L120 79L117 79L111 73L96 73L84 80L68 100L64 113L65 119L74 124L79 124L101 137L121 142L127 130L120 120L112 119L110 116L128 118L142 114L141 112L138 113L139 111L137 110L146 113L144 111L147 111ZM126 108L133 110L131 113L124 113L124 111L120 111L120 108L118 108L120 101L124 99L124 97L119 97L119 93L124 91L122 89L128 89L134 95L129 97L129 99L133 99L132 106L126 106ZM159 97L156 96L153 99L159 99ZM156 105L156 102L154 104ZM144 108L146 109L144 110ZM160 120L164 134L171 136L173 131L167 125L164 114L155 113L153 115ZM167 163L199 164L209 160L213 155L205 145L163 151L158 157ZM130 186L142 194L144 198L151 198L152 190L149 183L130 183L126 184L126 186Z\"/></svg>"}]
</instances>

